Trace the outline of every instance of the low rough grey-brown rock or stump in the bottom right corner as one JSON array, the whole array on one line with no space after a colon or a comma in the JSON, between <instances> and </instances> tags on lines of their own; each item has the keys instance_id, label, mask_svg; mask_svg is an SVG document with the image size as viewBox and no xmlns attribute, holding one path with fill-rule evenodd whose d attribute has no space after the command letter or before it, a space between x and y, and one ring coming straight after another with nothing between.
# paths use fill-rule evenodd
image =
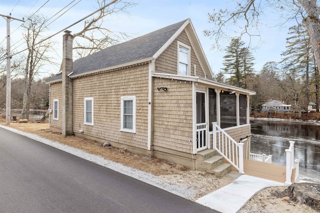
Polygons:
<instances>
[{"instance_id":1,"label":"low rough grey-brown rock or stump in the bottom right corner","mask_svg":"<svg viewBox=\"0 0 320 213\"><path fill-rule=\"evenodd\" d=\"M299 183L288 187L289 197L299 204L306 204L320 211L320 184Z\"/></svg>"}]
</instances>

